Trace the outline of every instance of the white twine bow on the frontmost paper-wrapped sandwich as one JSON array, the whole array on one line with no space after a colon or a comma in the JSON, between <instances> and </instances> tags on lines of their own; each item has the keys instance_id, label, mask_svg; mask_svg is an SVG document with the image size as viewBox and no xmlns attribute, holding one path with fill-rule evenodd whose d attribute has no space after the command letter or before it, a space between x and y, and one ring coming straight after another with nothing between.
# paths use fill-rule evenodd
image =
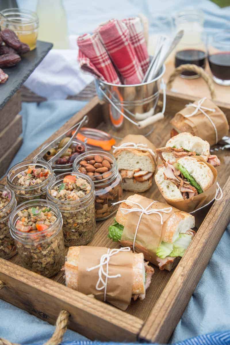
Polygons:
<instances>
[{"instance_id":1,"label":"white twine bow on the frontmost paper-wrapped sandwich","mask_svg":"<svg viewBox=\"0 0 230 345\"><path fill-rule=\"evenodd\" d=\"M98 270L98 277L99 278L98 278L98 282L96 284L96 289L97 290L103 290L104 289L104 302L106 301L106 290L107 290L108 278L121 277L121 274L117 274L114 276L109 275L109 260L110 260L111 256L116 255L119 252L130 252L130 248L129 247L123 247L123 248L119 248L119 249L109 249L108 248L107 253L103 254L101 256L99 265L86 269L88 272L90 272L93 269L99 268L99 270ZM103 268L104 265L106 265L106 272L104 271L104 268ZM102 276L104 276L106 279L104 280ZM99 287L100 283L102 285Z\"/></svg>"}]
</instances>

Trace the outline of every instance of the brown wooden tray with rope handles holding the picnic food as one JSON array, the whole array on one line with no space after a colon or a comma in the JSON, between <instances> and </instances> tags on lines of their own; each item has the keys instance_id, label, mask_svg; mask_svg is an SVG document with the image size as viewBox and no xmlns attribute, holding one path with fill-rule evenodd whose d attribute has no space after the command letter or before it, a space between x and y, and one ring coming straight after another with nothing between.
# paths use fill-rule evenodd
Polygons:
<instances>
[{"instance_id":1,"label":"brown wooden tray with rope handles holding the picnic food","mask_svg":"<svg viewBox=\"0 0 230 345\"><path fill-rule=\"evenodd\" d=\"M192 97L168 92L165 119L154 125L150 137L157 147L164 145L169 138L171 117L186 103L194 100ZM230 121L230 106L227 103L217 104ZM107 107L94 97L47 141L60 135L85 114L89 116L90 127L98 126L106 130L103 114L108 111ZM38 151L39 148L27 158L34 157ZM69 328L90 339L129 342L142 339L166 343L230 220L230 151L220 151L219 158L221 166L218 168L218 181L223 198L215 201L207 214L203 211L199 216L202 224L177 268L167 272L154 267L155 274L146 298L143 301L132 301L126 312L66 287L63 272L48 279L20 267L17 255L9 260L0 259L0 280L5 285L0 289L0 297L51 324L55 323L60 310L66 309L71 314ZM5 180L2 182L5 183ZM125 192L124 198L130 194ZM163 201L155 184L145 195ZM112 220L113 217L110 217L97 222L97 233L90 245L110 248L118 246L107 238Z\"/></svg>"}]
</instances>

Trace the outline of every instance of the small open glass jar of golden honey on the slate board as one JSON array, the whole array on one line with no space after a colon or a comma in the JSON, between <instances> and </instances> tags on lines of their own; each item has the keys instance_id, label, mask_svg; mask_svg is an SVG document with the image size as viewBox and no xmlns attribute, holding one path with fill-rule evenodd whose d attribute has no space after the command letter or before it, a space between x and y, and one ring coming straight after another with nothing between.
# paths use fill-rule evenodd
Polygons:
<instances>
[{"instance_id":1,"label":"small open glass jar of golden honey on the slate board","mask_svg":"<svg viewBox=\"0 0 230 345\"><path fill-rule=\"evenodd\" d=\"M1 11L1 30L13 30L21 42L27 43L30 50L36 48L38 37L38 16L36 12L19 8Z\"/></svg>"}]
</instances>

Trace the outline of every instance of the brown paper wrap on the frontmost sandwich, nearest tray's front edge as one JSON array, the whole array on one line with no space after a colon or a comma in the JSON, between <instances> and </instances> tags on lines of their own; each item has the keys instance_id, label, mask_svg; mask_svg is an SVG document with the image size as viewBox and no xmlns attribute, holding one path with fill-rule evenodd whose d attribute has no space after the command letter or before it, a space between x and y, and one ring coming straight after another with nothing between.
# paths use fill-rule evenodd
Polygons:
<instances>
[{"instance_id":1,"label":"brown paper wrap on the frontmost sandwich, nearest tray's front edge","mask_svg":"<svg viewBox=\"0 0 230 345\"><path fill-rule=\"evenodd\" d=\"M100 263L101 256L106 254L107 251L108 248L106 247L80 247L78 290L85 295L93 294L99 300L104 300L104 289L96 289L99 268L90 272L86 269L97 266ZM103 268L104 272L106 272L106 265ZM108 274L121 274L121 277L108 278L106 301L122 310L127 309L132 297L133 253L119 252L111 256ZM102 278L105 281L106 277L104 275L102 275ZM100 283L99 287L101 286Z\"/></svg>"}]
</instances>

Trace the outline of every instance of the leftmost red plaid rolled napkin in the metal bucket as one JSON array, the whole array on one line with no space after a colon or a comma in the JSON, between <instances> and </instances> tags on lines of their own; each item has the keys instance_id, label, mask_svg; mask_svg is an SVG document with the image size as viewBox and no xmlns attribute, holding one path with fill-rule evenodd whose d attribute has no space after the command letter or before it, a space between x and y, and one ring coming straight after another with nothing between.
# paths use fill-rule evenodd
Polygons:
<instances>
[{"instance_id":1,"label":"leftmost red plaid rolled napkin in the metal bucket","mask_svg":"<svg viewBox=\"0 0 230 345\"><path fill-rule=\"evenodd\" d=\"M109 83L121 83L97 33L93 35L85 33L79 36L77 44L79 47L78 61L82 69Z\"/></svg>"}]
</instances>

